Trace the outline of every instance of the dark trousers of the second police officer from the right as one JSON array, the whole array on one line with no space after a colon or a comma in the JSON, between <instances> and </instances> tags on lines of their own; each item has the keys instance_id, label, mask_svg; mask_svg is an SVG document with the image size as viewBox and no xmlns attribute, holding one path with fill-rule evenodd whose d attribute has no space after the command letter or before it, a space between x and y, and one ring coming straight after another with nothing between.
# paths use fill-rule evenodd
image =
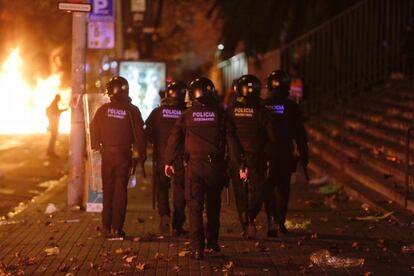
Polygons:
<instances>
[{"instance_id":1,"label":"dark trousers of the second police officer from the right","mask_svg":"<svg viewBox=\"0 0 414 276\"><path fill-rule=\"evenodd\" d=\"M265 159L261 153L246 153L245 157L249 172L248 191L246 192L246 187L240 180L239 167L234 165L231 169L232 184L237 211L239 214L246 212L247 205L249 219L254 220L264 200Z\"/></svg>"}]
</instances>

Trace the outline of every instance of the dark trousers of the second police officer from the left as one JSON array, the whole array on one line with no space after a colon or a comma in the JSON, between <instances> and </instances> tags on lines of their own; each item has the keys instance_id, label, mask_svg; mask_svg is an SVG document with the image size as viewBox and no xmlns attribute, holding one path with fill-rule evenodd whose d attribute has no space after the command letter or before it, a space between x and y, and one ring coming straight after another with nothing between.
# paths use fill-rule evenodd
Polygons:
<instances>
[{"instance_id":1,"label":"dark trousers of the second police officer from the left","mask_svg":"<svg viewBox=\"0 0 414 276\"><path fill-rule=\"evenodd\" d=\"M157 185L157 207L160 217L170 216L171 209L169 203L170 183L173 183L173 229L180 229L185 222L185 197L184 197L184 168L181 161L174 164L174 176L169 178L164 173L164 159L158 158L156 166Z\"/></svg>"}]
</instances>

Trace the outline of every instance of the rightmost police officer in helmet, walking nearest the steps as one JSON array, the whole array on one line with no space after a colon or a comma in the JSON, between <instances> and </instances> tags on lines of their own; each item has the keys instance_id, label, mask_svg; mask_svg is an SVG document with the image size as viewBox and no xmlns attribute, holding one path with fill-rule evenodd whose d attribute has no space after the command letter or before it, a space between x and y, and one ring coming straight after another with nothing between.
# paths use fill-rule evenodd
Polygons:
<instances>
[{"instance_id":1,"label":"rightmost police officer in helmet, walking nearest the steps","mask_svg":"<svg viewBox=\"0 0 414 276\"><path fill-rule=\"evenodd\" d=\"M277 236L278 230L287 234L286 213L290 194L290 177L296 170L297 157L294 143L299 151L300 160L308 165L308 138L304 118L299 105L290 100L291 79L282 70L273 71L267 78L269 98L265 107L272 114L272 125L277 133L277 142L270 143L269 176L266 184L266 212L269 219L268 236Z\"/></svg>"}]
</instances>

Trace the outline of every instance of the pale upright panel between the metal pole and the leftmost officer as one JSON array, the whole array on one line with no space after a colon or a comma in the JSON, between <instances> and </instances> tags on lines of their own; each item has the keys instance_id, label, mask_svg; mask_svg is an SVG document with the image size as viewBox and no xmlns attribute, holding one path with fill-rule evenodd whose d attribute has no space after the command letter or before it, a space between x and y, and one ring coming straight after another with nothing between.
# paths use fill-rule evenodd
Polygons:
<instances>
[{"instance_id":1,"label":"pale upright panel between the metal pole and the leftmost officer","mask_svg":"<svg viewBox=\"0 0 414 276\"><path fill-rule=\"evenodd\" d=\"M85 131L86 131L86 182L87 182L87 212L101 212L103 203L102 194L102 175L101 175L101 153L93 151L91 147L90 123L96 110L108 102L109 99L104 94L85 94L83 97L83 107L85 114Z\"/></svg>"}]
</instances>

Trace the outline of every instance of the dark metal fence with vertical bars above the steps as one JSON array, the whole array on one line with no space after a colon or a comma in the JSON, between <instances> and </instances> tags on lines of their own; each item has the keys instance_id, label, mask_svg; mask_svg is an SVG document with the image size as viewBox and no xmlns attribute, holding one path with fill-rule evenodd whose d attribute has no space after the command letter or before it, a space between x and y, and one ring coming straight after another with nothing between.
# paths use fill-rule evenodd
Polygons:
<instances>
[{"instance_id":1,"label":"dark metal fence with vertical bars above the steps","mask_svg":"<svg viewBox=\"0 0 414 276\"><path fill-rule=\"evenodd\" d=\"M304 83L306 111L346 101L405 73L413 0L365 0L281 48L281 68Z\"/></svg>"}]
</instances>

